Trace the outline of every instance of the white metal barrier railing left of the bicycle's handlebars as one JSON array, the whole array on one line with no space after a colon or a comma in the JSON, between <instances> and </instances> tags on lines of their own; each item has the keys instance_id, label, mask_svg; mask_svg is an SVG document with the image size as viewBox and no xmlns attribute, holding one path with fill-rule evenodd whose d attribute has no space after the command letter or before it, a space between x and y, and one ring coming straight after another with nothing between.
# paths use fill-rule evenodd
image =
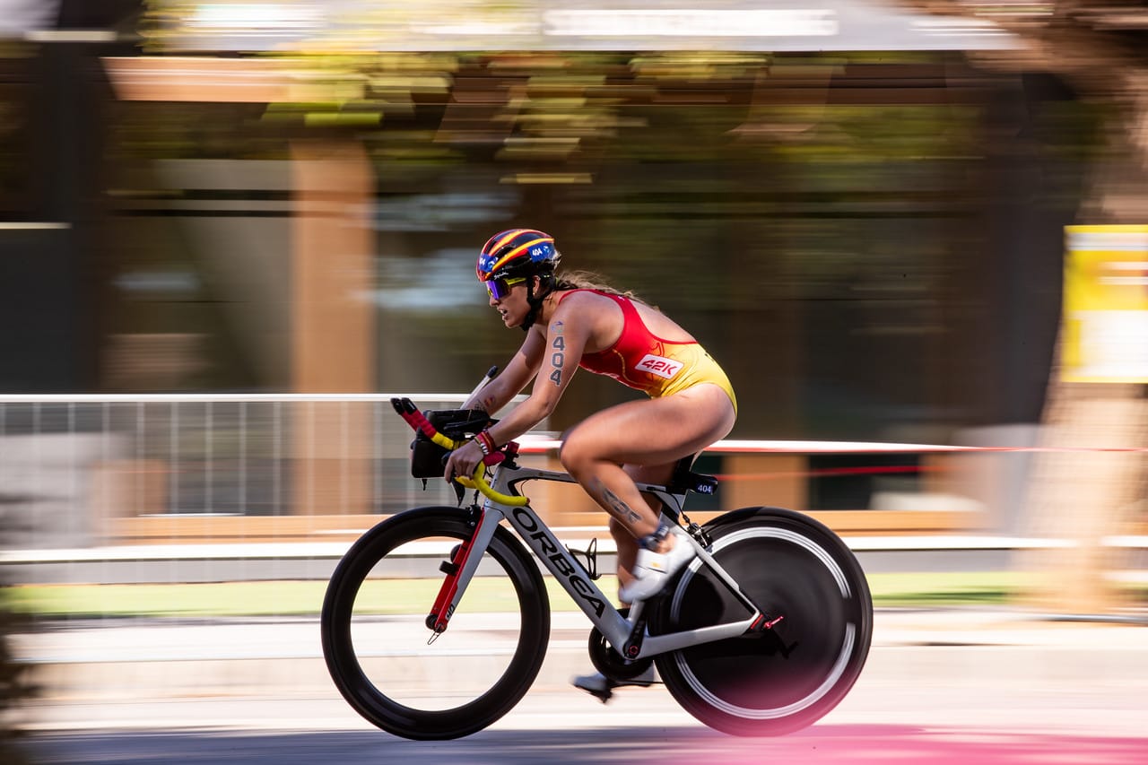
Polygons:
<instances>
[{"instance_id":1,"label":"white metal barrier railing left of the bicycle's handlebars","mask_svg":"<svg viewBox=\"0 0 1148 765\"><path fill-rule=\"evenodd\" d=\"M383 515L453 502L409 473L391 395L0 395L3 546L83 548L134 517Z\"/></svg>"}]
</instances>

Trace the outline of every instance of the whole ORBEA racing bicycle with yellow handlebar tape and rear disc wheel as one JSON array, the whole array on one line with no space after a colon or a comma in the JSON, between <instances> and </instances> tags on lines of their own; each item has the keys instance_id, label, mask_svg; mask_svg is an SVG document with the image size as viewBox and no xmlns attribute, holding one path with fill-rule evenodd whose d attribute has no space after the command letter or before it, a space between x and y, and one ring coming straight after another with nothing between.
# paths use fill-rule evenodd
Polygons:
<instances>
[{"instance_id":1,"label":"whole ORBEA racing bicycle with yellow handlebar tape and rear disc wheel","mask_svg":"<svg viewBox=\"0 0 1148 765\"><path fill-rule=\"evenodd\" d=\"M442 477L447 451L494 422L472 410L421 412L409 399L391 404L417 432L411 472L424 480ZM530 481L574 479L520 464L514 442L458 479L475 489L470 504L379 523L342 557L324 598L323 652L335 686L366 720L408 739L456 739L495 722L545 658L551 611L536 558L594 625L590 659L606 677L637 678L653 663L687 711L735 735L819 720L869 652L864 573L830 528L791 510L690 521L687 495L718 484L691 464L681 461L665 486L638 488L661 501L666 523L687 530L697 557L629 609L595 584L596 544L567 548L522 494Z\"/></svg>"}]
</instances>

